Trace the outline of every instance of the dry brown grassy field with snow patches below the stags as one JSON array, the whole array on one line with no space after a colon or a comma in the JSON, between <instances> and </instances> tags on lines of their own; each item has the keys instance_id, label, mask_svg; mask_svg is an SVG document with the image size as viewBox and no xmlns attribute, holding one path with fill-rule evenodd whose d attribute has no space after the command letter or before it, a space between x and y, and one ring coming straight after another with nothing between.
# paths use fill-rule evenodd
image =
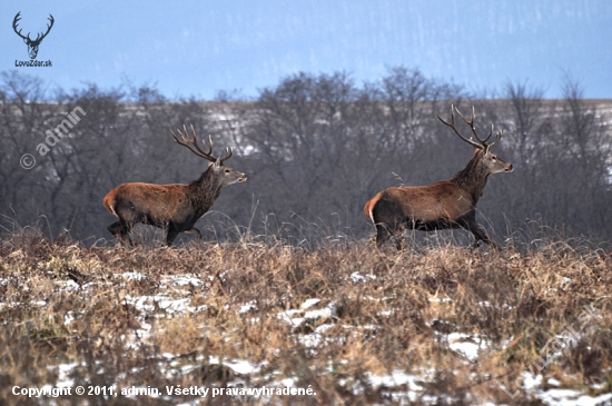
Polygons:
<instances>
[{"instance_id":1,"label":"dry brown grassy field with snow patches below the stags","mask_svg":"<svg viewBox=\"0 0 612 406\"><path fill-rule=\"evenodd\" d=\"M0 404L610 404L611 286L612 256L586 241L397 254L16 235Z\"/></svg>"}]
</instances>

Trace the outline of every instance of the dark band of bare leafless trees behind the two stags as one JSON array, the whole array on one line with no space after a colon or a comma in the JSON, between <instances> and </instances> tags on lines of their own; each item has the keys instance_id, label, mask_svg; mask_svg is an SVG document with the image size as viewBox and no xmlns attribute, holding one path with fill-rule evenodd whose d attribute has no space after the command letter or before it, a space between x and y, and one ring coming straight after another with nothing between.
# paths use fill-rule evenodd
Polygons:
<instances>
[{"instance_id":1,"label":"dark band of bare leafless trees behind the two stags","mask_svg":"<svg viewBox=\"0 0 612 406\"><path fill-rule=\"evenodd\" d=\"M584 99L570 77L561 86L559 100L529 82L478 95L396 67L361 85L344 72L297 73L253 99L219 91L204 101L170 100L150 85L49 89L36 77L0 72L1 232L33 227L50 237L111 239L113 218L101 201L115 186L189 182L206 169L170 136L193 125L219 154L234 147L228 165L248 176L198 222L206 238L365 238L373 227L363 206L377 191L448 179L470 160L471 148L435 115L447 119L453 102L464 113L474 106L481 132L491 123L503 130L495 152L515 168L492 177L478 204L494 239L535 238L536 224L612 240L612 101ZM36 160L30 169L27 154Z\"/></svg>"}]
</instances>

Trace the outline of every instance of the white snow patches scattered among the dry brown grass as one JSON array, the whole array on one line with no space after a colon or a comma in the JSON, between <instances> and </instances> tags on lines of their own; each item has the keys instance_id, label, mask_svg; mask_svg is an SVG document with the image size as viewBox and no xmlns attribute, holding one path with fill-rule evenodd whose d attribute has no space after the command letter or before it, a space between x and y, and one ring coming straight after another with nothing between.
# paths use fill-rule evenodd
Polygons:
<instances>
[{"instance_id":1,"label":"white snow patches scattered among the dry brown grass","mask_svg":"<svg viewBox=\"0 0 612 406\"><path fill-rule=\"evenodd\" d=\"M126 286L129 281L140 281L148 278L148 276L139 273L124 273L113 276L112 284L113 286ZM367 284L368 280L374 278L373 276L362 276L358 273L351 275L351 280L353 284ZM0 284L6 284L6 279L0 279ZM155 334L151 329L151 324L148 321L151 318L171 318L171 317L184 317L190 314L197 314L205 311L205 306L195 306L191 304L191 299L187 297L189 295L189 287L203 288L208 285L209 280L203 280L195 275L164 275L159 278L158 289L155 295L141 295L135 296L127 294L124 297L124 303L129 305L138 311L138 319L140 327L136 330L138 336L138 343L146 343L150 335ZM83 285L77 285L72 280L58 280L56 283L56 288L61 290L78 291L80 295L87 295L88 289L90 289L96 284L109 284L109 281L89 281ZM203 289L203 295L205 295L206 289ZM376 300L375 298L369 298ZM436 306L446 306L452 305L450 298L446 297L431 297L430 301ZM21 306L19 303L0 303L0 309ZM45 300L39 300L36 303L29 304L29 306L39 306L45 308L48 306L48 303ZM245 315L248 317L248 313L253 309L257 309L257 300L250 300L248 303L238 304L235 308L235 311ZM481 306L491 306L488 303L482 303ZM388 311L387 311L388 313ZM388 314L381 314L382 317L388 316ZM65 325L70 327L70 325L78 317L73 311L68 311L65 315ZM299 341L304 347L308 348L313 354L317 351L317 348L329 340L330 338L325 334L326 330L333 327L342 327L345 329L354 329L354 326L342 325L337 318L337 305L335 301L325 303L318 298L309 298L304 300L298 308L287 309L279 311L276 317L279 320L287 323L294 330L294 334L298 335ZM443 323L443 320L430 320L430 323ZM299 331L299 327L309 324L313 326L310 329L304 329L303 333ZM375 331L379 328L377 325L367 325L359 326L361 329L369 329ZM491 350L492 341L486 337L481 337L477 334L465 334L465 333L440 333L436 331L437 338L442 343L446 343L450 350L454 354L463 357L465 363L477 364L481 355L486 354ZM507 340L510 343L511 339ZM138 343L134 343L134 346L137 346ZM499 346L499 344L497 344ZM503 345L502 345L503 347ZM501 348L503 349L503 348ZM500 350L500 348L497 348ZM559 354L557 354L559 355ZM166 353L162 355L165 358L164 366L160 365L160 369L166 372L168 376L172 376L172 372L179 372L181 374L188 374L203 364L206 365L219 365L225 368L229 368L235 376L235 379L228 385L239 387L240 385L257 385L258 375L264 367L263 364L253 364L246 359L234 359L234 358L219 358L215 355L210 355L205 359L203 356L195 358L191 362L179 360L178 354ZM70 378L71 372L75 368L83 367L78 363L63 363L58 364L49 369L57 374L58 376L58 387L71 387L75 385L75 382ZM269 376L273 376L272 383ZM424 404L436 404L437 398L426 395L424 385L427 382L432 380L434 370L432 369L418 369L414 370L391 370L384 375L376 375L374 373L367 373L366 377L368 380L367 386L369 388L379 389L385 388L388 390L389 396L398 404L408 405L413 402L421 402ZM269 388L274 387L293 387L295 386L295 379L292 377L286 377L279 370L273 370L267 373L268 378L266 380L266 386ZM246 380L248 377L248 380ZM276 377L276 378L274 378ZM121 376L117 377L117 382ZM344 386L347 390L358 395L363 393L364 386L361 382L347 380L345 378L339 378L338 384ZM496 383L501 385L500 383ZM547 382L543 383L543 376L540 374L533 375L531 372L525 370L522 374L521 386L515 388L506 388L509 393L509 404L512 400L513 393L523 392L527 394L533 399L539 399L546 405L600 405L604 402L610 402L612 399L612 394L603 394L599 396L590 396L588 394L589 388L584 390L575 390L560 387L561 383L556 379L549 378ZM168 395L160 394L160 397ZM448 399L450 402L452 399ZM194 403L195 405L196 403Z\"/></svg>"}]
</instances>

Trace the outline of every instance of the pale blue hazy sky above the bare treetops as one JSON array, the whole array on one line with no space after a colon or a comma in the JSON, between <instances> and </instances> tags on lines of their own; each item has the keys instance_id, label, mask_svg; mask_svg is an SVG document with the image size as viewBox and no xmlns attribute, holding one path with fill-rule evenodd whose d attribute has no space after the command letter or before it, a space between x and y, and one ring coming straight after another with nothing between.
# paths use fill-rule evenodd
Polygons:
<instances>
[{"instance_id":1,"label":"pale blue hazy sky above the bare treetops","mask_svg":"<svg viewBox=\"0 0 612 406\"><path fill-rule=\"evenodd\" d=\"M55 26L37 60L22 33ZM275 86L299 71L349 72L361 83L387 67L418 68L471 90L507 81L560 96L564 72L589 98L612 98L611 0L0 0L0 70L65 89L130 80L168 97Z\"/></svg>"}]
</instances>

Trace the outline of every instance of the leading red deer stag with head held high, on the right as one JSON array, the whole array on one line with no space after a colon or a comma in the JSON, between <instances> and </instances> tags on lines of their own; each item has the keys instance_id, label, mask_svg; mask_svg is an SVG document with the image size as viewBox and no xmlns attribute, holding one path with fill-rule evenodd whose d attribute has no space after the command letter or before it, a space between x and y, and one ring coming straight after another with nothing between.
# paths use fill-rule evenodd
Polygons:
<instances>
[{"instance_id":1,"label":"leading red deer stag with head held high, on the right","mask_svg":"<svg viewBox=\"0 0 612 406\"><path fill-rule=\"evenodd\" d=\"M472 137L465 138L455 127L455 111L472 129ZM465 169L451 180L442 180L428 186L391 187L374 196L364 207L365 216L376 226L376 246L381 246L391 237L397 249L404 245L404 229L437 230L464 228L476 239L473 248L485 241L496 248L484 229L476 222L476 204L483 195L486 179L492 174L511 172L512 165L491 152L491 148L502 139L502 131L496 133L495 141L486 143L493 135L485 139L476 133L474 127L474 107L472 119L467 121L463 115L451 105L451 122L444 121L465 142L474 147L474 157Z\"/></svg>"}]
</instances>

